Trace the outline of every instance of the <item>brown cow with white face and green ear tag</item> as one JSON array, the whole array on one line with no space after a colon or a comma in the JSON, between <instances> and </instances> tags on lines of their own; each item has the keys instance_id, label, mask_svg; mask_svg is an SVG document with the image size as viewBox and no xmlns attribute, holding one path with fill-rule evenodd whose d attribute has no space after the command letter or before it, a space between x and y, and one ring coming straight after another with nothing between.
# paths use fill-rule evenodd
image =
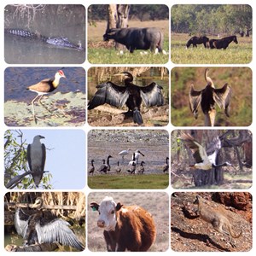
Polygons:
<instances>
[{"instance_id":1,"label":"brown cow with white face and green ear tag","mask_svg":"<svg viewBox=\"0 0 256 256\"><path fill-rule=\"evenodd\" d=\"M99 212L97 226L104 230L108 252L146 252L155 240L154 220L142 207L123 206L106 196L90 207Z\"/></svg>"}]
</instances>

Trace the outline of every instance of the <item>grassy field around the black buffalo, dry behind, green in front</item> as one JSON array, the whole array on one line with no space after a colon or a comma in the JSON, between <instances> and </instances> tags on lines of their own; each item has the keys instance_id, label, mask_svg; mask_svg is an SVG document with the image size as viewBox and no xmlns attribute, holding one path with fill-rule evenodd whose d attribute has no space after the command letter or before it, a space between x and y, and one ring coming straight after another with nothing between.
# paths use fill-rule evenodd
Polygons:
<instances>
[{"instance_id":1,"label":"grassy field around the black buffalo, dry behind, green in front","mask_svg":"<svg viewBox=\"0 0 256 256\"><path fill-rule=\"evenodd\" d=\"M159 27L164 32L163 49L169 52L169 21L139 21L130 20L130 27ZM135 50L131 54L128 50L119 54L108 42L103 42L102 36L106 31L107 22L96 22L96 26L88 26L88 61L91 64L165 64L169 60L167 55L154 55L150 50Z\"/></svg>"}]
</instances>

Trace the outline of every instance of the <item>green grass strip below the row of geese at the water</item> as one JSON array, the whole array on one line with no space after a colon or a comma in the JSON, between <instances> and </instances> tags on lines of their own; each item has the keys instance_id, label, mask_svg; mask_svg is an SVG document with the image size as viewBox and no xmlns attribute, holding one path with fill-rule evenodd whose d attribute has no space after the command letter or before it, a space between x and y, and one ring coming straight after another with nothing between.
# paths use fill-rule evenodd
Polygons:
<instances>
[{"instance_id":1,"label":"green grass strip below the row of geese at the water","mask_svg":"<svg viewBox=\"0 0 256 256\"><path fill-rule=\"evenodd\" d=\"M166 189L169 175L97 175L88 177L90 189Z\"/></svg>"}]
</instances>

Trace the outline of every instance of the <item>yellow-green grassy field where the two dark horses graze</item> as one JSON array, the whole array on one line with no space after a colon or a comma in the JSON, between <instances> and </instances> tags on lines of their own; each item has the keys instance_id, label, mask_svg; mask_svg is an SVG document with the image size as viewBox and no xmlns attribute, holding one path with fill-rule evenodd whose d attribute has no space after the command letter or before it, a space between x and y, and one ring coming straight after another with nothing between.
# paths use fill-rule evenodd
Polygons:
<instances>
[{"instance_id":1,"label":"yellow-green grassy field where the two dark horses graze","mask_svg":"<svg viewBox=\"0 0 256 256\"><path fill-rule=\"evenodd\" d=\"M238 44L230 43L227 49L185 48L191 38L188 34L171 34L171 61L175 64L247 64L252 61L253 38L237 38ZM209 37L210 39L213 37Z\"/></svg>"}]
</instances>

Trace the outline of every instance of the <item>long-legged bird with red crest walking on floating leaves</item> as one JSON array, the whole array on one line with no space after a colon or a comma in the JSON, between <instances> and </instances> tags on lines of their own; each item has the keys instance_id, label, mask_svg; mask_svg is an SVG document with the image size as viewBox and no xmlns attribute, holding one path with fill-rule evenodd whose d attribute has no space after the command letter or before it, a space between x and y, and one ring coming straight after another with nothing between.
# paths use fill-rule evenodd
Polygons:
<instances>
[{"instance_id":1,"label":"long-legged bird with red crest walking on floating leaves","mask_svg":"<svg viewBox=\"0 0 256 256\"><path fill-rule=\"evenodd\" d=\"M58 85L60 84L60 79L61 78L65 78L66 79L66 76L65 74L63 73L62 70L59 70L57 73L55 73L55 77L54 79L44 79L42 81L40 81L38 84L33 84L31 86L28 86L26 87L26 90L31 90L31 91L34 91L36 93L38 93L38 95L32 100L32 112L33 112L33 119L35 120L36 122L36 116L35 116L35 110L34 110L34 102L35 100L39 97L38 99L38 102L49 112L49 109L46 108L44 106L44 104L41 102L41 99L42 97L45 95L45 94L48 94L49 92L55 90Z\"/></svg>"}]
</instances>

